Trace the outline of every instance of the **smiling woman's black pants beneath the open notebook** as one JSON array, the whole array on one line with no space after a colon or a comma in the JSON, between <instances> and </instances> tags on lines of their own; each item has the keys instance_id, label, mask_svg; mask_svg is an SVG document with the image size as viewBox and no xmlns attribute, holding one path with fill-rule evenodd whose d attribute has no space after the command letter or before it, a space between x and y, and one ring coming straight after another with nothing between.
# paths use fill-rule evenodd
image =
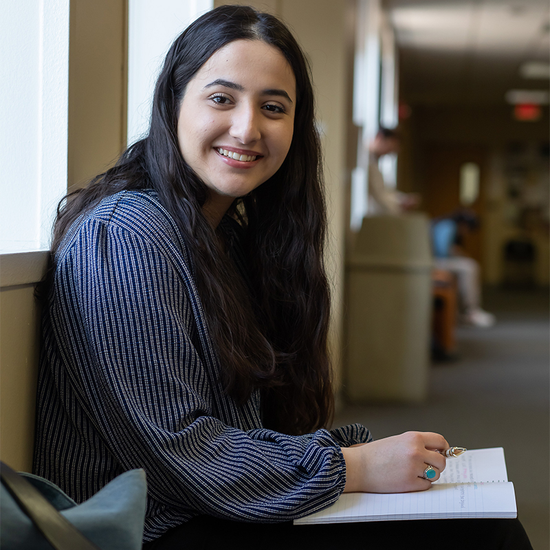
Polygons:
<instances>
[{"instance_id":1,"label":"smiling woman's black pants beneath the open notebook","mask_svg":"<svg viewBox=\"0 0 550 550\"><path fill-rule=\"evenodd\" d=\"M533 550L519 520L405 520L325 525L241 523L199 516L144 550Z\"/></svg>"}]
</instances>

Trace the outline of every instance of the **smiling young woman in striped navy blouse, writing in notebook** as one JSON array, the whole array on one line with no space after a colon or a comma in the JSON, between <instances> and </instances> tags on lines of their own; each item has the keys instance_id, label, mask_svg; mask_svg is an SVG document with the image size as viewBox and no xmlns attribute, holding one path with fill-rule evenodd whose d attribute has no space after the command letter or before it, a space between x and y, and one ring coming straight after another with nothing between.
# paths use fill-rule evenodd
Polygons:
<instances>
[{"instance_id":1,"label":"smiling young woman in striped navy blouse, writing in notebook","mask_svg":"<svg viewBox=\"0 0 550 550\"><path fill-rule=\"evenodd\" d=\"M376 529L387 543L399 527L291 522L343 491L427 489L448 447L325 429L322 189L292 34L238 6L192 23L166 56L147 137L58 212L36 472L85 500L143 467L148 548L376 547Z\"/></svg>"}]
</instances>

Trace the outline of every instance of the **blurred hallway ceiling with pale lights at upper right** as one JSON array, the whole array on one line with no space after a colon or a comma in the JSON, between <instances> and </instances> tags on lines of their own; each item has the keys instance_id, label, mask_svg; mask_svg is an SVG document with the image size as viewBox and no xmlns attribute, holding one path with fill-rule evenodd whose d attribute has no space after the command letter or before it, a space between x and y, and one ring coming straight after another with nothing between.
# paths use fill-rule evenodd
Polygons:
<instances>
[{"instance_id":1,"label":"blurred hallway ceiling with pale lights at upper right","mask_svg":"<svg viewBox=\"0 0 550 550\"><path fill-rule=\"evenodd\" d=\"M410 104L504 104L527 61L550 63L549 0L385 0Z\"/></svg>"}]
</instances>

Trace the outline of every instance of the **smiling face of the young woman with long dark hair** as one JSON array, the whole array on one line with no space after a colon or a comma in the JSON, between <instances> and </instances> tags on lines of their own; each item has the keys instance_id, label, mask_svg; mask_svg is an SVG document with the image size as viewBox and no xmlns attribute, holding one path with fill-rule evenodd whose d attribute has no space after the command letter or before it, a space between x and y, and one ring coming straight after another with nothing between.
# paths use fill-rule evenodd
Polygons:
<instances>
[{"instance_id":1,"label":"smiling face of the young woman with long dark hair","mask_svg":"<svg viewBox=\"0 0 550 550\"><path fill-rule=\"evenodd\" d=\"M292 68L262 41L228 43L190 80L179 110L179 150L210 189L205 211L215 222L283 164L295 107Z\"/></svg>"}]
</instances>

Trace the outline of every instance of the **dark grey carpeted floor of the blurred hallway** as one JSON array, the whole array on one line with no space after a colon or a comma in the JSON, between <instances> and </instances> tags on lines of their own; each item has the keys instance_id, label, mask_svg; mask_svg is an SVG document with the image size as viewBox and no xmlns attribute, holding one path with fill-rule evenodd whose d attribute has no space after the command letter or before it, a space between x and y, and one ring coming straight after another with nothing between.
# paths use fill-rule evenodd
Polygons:
<instances>
[{"instance_id":1,"label":"dark grey carpeted floor of the blurred hallway","mask_svg":"<svg viewBox=\"0 0 550 550\"><path fill-rule=\"evenodd\" d=\"M518 516L535 550L549 548L549 294L487 289L492 329L459 329L459 358L432 366L421 405L344 406L335 425L360 422L376 439L441 432L451 445L503 447Z\"/></svg>"}]
</instances>

